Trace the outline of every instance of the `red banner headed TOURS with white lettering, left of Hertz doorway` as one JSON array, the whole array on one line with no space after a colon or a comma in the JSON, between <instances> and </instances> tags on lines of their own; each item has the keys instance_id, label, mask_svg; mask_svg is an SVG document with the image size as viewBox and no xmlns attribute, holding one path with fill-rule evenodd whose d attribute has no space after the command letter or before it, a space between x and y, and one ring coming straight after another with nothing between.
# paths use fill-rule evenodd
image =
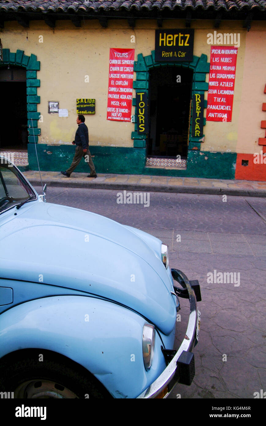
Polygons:
<instances>
[{"instance_id":1,"label":"red banner headed TOURS with white lettering, left of Hertz doorway","mask_svg":"<svg viewBox=\"0 0 266 426\"><path fill-rule=\"evenodd\" d=\"M130 121L134 49L110 49L107 120Z\"/></svg>"}]
</instances>

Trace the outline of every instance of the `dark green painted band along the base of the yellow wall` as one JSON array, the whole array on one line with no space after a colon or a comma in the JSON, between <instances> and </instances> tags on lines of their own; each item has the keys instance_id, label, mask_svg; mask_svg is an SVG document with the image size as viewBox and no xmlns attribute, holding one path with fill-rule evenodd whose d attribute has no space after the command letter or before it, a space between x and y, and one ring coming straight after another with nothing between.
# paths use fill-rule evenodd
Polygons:
<instances>
[{"instance_id":1,"label":"dark green painted band along the base of the yellow wall","mask_svg":"<svg viewBox=\"0 0 266 426\"><path fill-rule=\"evenodd\" d=\"M29 169L37 169L33 136L28 144ZM35 136L37 139L37 136ZM71 145L37 144L40 169L51 172L66 170L72 163L74 147ZM212 179L234 179L236 153L210 153L189 150L186 170L167 170L145 167L146 148L101 147L90 145L97 173L143 174L155 176L204 177ZM75 169L75 173L88 173L85 161Z\"/></svg>"}]
</instances>

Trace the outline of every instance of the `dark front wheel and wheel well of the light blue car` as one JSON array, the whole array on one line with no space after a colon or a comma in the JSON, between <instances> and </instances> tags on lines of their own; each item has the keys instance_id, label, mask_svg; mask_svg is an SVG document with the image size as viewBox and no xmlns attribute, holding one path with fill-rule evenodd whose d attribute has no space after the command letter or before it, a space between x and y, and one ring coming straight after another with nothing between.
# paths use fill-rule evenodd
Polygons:
<instances>
[{"instance_id":1,"label":"dark front wheel and wheel well of the light blue car","mask_svg":"<svg viewBox=\"0 0 266 426\"><path fill-rule=\"evenodd\" d=\"M43 361L39 361L40 353ZM0 391L14 392L14 399L111 397L85 368L66 357L63 363L56 358L41 350L19 360L9 358L0 367Z\"/></svg>"}]
</instances>

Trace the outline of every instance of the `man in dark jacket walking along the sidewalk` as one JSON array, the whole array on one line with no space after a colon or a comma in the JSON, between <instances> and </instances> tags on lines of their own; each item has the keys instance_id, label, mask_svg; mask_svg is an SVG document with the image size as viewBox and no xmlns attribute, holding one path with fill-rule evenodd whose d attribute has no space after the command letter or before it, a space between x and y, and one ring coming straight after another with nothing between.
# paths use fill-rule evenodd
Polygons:
<instances>
[{"instance_id":1,"label":"man in dark jacket walking along the sidewalk","mask_svg":"<svg viewBox=\"0 0 266 426\"><path fill-rule=\"evenodd\" d=\"M75 134L75 140L72 142L73 145L77 145L75 150L75 155L72 161L71 166L66 172L61 172L62 175L70 178L73 170L80 164L81 158L85 158L85 161L89 164L91 173L87 176L88 178L97 178L95 167L92 161L92 154L89 151L89 131L88 127L84 123L85 117L80 114L77 116L77 132Z\"/></svg>"}]
</instances>

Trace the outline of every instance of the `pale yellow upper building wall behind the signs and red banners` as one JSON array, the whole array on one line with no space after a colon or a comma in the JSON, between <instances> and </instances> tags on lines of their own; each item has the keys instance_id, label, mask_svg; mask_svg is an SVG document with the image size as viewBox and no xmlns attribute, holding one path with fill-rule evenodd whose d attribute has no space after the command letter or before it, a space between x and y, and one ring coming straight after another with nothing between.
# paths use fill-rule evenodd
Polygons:
<instances>
[{"instance_id":1,"label":"pale yellow upper building wall behind the signs and red banners","mask_svg":"<svg viewBox=\"0 0 266 426\"><path fill-rule=\"evenodd\" d=\"M96 113L86 116L90 144L133 147L131 132L134 124L106 120L109 48L135 49L135 60L139 53L150 55L154 50L157 28L155 20L137 20L134 30L129 28L126 20L109 20L106 29L97 20L85 20L82 28L75 28L70 21L58 20L55 29L49 28L43 21L31 21L29 29L23 29L15 22L6 22L0 33L3 48L10 49L10 52L24 50L26 55L37 55L40 61L40 71L37 71L40 104L37 111L43 115L43 122L38 123L41 129L39 143L71 144L77 128L76 99L95 98ZM163 28L185 28L185 22L164 20ZM200 57L205 54L209 62L211 45L207 43L207 34L214 32L213 21L195 20L191 28L195 29L194 55ZM242 28L240 21L222 22L215 30L222 34L240 34L232 122L207 121L203 127L205 141L201 150L253 152L255 141L263 135L258 126L263 119L261 104L266 66L263 23L252 23L249 33ZM135 43L131 42L132 35ZM89 76L88 83L86 76ZM208 81L209 74L206 76ZM48 101L59 101L60 108L68 109L69 117L49 114Z\"/></svg>"}]
</instances>

